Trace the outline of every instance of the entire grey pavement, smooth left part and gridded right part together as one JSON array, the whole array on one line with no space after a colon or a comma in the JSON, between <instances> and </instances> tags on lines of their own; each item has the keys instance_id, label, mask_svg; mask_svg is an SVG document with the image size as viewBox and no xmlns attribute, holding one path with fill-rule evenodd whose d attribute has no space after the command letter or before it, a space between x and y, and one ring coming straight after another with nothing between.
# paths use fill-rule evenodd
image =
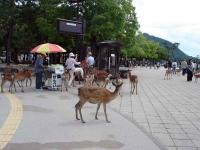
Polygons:
<instances>
[{"instance_id":1,"label":"entire grey pavement, smooth left part and gridded right part together","mask_svg":"<svg viewBox=\"0 0 200 150\"><path fill-rule=\"evenodd\" d=\"M186 82L186 77L178 75L164 80L163 68L138 67L132 72L139 77L139 94L130 94L125 79L121 96L108 104L111 123L105 122L102 108L99 120L94 119L93 104L82 110L86 124L75 120L77 88L36 92L28 87L25 93L14 93L16 101L10 103L9 94L0 94L0 145L7 140L7 150L200 150L200 81ZM19 112L23 112L20 125L7 133L11 141L2 140L4 120L18 101L23 106L16 109L18 120Z\"/></svg>"}]
</instances>

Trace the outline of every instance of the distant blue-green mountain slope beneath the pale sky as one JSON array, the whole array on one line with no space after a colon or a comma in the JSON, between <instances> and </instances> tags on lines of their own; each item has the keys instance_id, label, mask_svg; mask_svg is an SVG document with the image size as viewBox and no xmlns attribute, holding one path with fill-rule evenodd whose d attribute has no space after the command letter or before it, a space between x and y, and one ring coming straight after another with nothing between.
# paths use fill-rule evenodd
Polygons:
<instances>
[{"instance_id":1,"label":"distant blue-green mountain slope beneath the pale sky","mask_svg":"<svg viewBox=\"0 0 200 150\"><path fill-rule=\"evenodd\" d=\"M190 56L188 56L187 54L185 54L178 48L179 43L172 43L165 39L162 39L153 35L149 35L148 33L143 33L143 35L147 40L159 43L161 47L164 47L167 50L169 50L169 57L172 60L183 60L183 59L191 58Z\"/></svg>"}]
</instances>

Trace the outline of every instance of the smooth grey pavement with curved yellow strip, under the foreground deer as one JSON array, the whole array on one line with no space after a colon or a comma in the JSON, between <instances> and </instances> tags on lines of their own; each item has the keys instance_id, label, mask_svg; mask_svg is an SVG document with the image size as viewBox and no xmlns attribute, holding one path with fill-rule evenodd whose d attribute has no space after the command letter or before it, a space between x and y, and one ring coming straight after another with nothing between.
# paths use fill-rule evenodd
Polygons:
<instances>
[{"instance_id":1,"label":"smooth grey pavement with curved yellow strip, under the foreground deer","mask_svg":"<svg viewBox=\"0 0 200 150\"><path fill-rule=\"evenodd\" d=\"M5 91L7 90L8 84L5 88ZM0 93L0 98L0 106L5 109L0 109L0 112L2 111L0 114L5 120L0 122L0 149L159 150L162 148L131 121L109 108L107 113L111 123L105 121L102 108L99 111L99 120L95 120L94 104L86 104L82 109L86 123L77 121L74 110L78 101L77 87L69 89L68 92L35 91L34 87L28 87L24 93Z\"/></svg>"}]
</instances>

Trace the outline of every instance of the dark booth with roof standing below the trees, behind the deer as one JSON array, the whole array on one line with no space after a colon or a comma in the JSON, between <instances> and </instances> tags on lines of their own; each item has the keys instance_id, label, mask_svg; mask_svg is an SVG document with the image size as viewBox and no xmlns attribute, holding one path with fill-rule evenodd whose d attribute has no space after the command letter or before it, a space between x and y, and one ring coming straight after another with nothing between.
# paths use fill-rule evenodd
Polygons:
<instances>
[{"instance_id":1,"label":"dark booth with roof standing below the trees, behind the deer","mask_svg":"<svg viewBox=\"0 0 200 150\"><path fill-rule=\"evenodd\" d=\"M116 41L104 41L97 43L95 52L96 67L105 70L116 77L119 73L120 48L122 44Z\"/></svg>"}]
</instances>

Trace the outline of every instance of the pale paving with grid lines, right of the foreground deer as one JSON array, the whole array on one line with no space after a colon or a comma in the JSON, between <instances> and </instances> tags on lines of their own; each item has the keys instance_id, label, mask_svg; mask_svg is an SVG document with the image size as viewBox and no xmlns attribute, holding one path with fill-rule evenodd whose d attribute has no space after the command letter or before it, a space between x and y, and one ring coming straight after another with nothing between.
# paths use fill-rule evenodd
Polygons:
<instances>
[{"instance_id":1,"label":"pale paving with grid lines, right of the foreground deer","mask_svg":"<svg viewBox=\"0 0 200 150\"><path fill-rule=\"evenodd\" d=\"M121 101L110 106L133 121L169 150L200 150L200 81L186 76L164 80L163 68L133 69L139 77L138 95L130 95L127 80Z\"/></svg>"}]
</instances>

